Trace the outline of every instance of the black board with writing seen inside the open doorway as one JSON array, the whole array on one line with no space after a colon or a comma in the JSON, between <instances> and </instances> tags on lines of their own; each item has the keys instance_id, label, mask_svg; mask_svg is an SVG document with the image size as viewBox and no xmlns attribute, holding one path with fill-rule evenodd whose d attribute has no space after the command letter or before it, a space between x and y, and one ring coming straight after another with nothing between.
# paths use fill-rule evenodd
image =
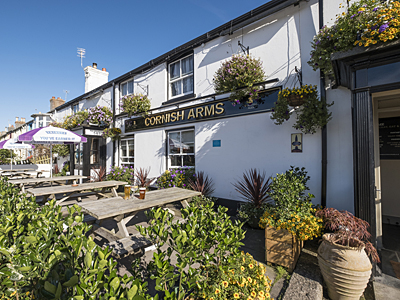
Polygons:
<instances>
[{"instance_id":1,"label":"black board with writing seen inside the open doorway","mask_svg":"<svg viewBox=\"0 0 400 300\"><path fill-rule=\"evenodd\" d=\"M379 119L381 159L400 159L400 118Z\"/></svg>"}]
</instances>

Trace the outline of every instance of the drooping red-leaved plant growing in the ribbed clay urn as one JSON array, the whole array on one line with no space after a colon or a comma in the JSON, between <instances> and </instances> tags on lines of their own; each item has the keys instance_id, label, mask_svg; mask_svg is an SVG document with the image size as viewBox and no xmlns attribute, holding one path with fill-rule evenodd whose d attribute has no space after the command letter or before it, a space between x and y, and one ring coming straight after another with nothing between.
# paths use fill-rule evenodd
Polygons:
<instances>
[{"instance_id":1,"label":"drooping red-leaved plant growing in the ribbed clay urn","mask_svg":"<svg viewBox=\"0 0 400 300\"><path fill-rule=\"evenodd\" d=\"M368 232L368 222L355 217L352 213L334 208L324 208L316 213L317 217L324 220L326 229L334 233L328 239L338 245L365 248L365 252L375 262L379 262L379 255L369 241L371 234Z\"/></svg>"}]
</instances>

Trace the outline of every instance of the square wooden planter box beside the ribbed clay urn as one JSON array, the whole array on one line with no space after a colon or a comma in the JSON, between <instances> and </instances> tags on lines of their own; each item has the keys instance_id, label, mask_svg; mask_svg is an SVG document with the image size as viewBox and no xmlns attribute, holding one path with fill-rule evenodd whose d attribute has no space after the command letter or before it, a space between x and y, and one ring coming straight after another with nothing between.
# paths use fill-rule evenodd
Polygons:
<instances>
[{"instance_id":1,"label":"square wooden planter box beside the ribbed clay urn","mask_svg":"<svg viewBox=\"0 0 400 300\"><path fill-rule=\"evenodd\" d=\"M285 229L265 227L265 260L284 266L292 272L299 259L303 241Z\"/></svg>"}]
</instances>

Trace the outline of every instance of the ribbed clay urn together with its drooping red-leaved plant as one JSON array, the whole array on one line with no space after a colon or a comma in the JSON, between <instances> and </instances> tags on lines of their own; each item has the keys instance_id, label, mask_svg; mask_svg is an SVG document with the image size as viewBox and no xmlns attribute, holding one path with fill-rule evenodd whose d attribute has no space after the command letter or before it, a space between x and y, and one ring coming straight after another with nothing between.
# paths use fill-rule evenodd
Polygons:
<instances>
[{"instance_id":1,"label":"ribbed clay urn together with its drooping red-leaved plant","mask_svg":"<svg viewBox=\"0 0 400 300\"><path fill-rule=\"evenodd\" d=\"M325 208L317 212L325 228L333 233L323 235L318 248L318 264L332 300L360 299L371 276L368 256L379 262L375 247L369 241L368 222L348 211Z\"/></svg>"}]
</instances>

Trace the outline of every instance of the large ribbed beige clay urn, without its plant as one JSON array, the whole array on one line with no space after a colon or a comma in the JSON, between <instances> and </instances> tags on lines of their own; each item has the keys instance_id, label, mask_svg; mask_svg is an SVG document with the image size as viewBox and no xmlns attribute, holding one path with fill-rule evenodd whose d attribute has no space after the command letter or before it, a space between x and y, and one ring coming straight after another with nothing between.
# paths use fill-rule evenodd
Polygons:
<instances>
[{"instance_id":1,"label":"large ribbed beige clay urn, without its plant","mask_svg":"<svg viewBox=\"0 0 400 300\"><path fill-rule=\"evenodd\" d=\"M337 245L323 235L318 248L318 264L332 300L359 300L371 276L372 265L359 248Z\"/></svg>"}]
</instances>

